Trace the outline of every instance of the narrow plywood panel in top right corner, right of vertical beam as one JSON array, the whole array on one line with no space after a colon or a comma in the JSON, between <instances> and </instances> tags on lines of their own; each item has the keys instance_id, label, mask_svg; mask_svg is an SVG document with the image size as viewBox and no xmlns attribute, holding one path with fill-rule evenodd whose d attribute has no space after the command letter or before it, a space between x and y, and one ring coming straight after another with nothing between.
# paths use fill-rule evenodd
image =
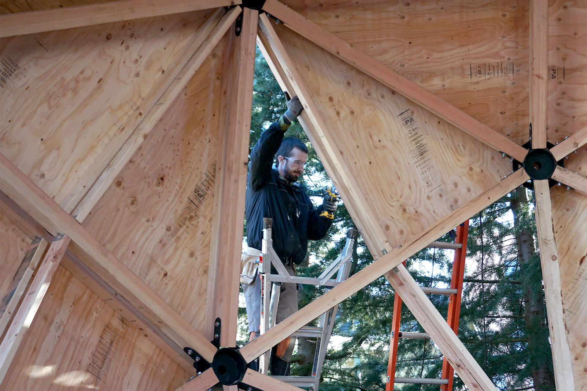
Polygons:
<instances>
[{"instance_id":1,"label":"narrow plywood panel in top right corner, right of vertical beam","mask_svg":"<svg viewBox=\"0 0 587 391\"><path fill-rule=\"evenodd\" d=\"M549 141L587 125L587 4L557 0L548 18Z\"/></svg>"}]
</instances>

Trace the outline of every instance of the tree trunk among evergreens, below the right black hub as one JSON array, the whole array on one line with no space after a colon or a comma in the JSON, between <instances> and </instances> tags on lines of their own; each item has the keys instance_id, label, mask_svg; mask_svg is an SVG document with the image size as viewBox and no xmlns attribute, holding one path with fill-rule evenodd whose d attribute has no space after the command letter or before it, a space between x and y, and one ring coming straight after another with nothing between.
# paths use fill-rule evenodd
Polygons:
<instances>
[{"instance_id":1,"label":"tree trunk among evergreens, below the right black hub","mask_svg":"<svg viewBox=\"0 0 587 391\"><path fill-rule=\"evenodd\" d=\"M514 213L515 239L518 247L518 263L523 284L524 318L528 335L528 363L534 378L536 391L554 391L554 371L548 342L548 326L544 311L544 291L540 259L529 229L532 216L528 208L525 188L516 189L511 198ZM548 351L546 347L548 346Z\"/></svg>"}]
</instances>

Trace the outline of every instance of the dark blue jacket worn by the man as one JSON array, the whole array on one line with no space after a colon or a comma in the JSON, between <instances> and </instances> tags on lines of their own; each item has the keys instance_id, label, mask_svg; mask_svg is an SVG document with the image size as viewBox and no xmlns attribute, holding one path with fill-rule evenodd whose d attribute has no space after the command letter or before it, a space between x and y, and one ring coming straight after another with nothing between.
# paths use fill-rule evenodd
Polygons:
<instances>
[{"instance_id":1,"label":"dark blue jacket worn by the man","mask_svg":"<svg viewBox=\"0 0 587 391\"><path fill-rule=\"evenodd\" d=\"M300 264L306 257L308 239L322 239L332 220L319 217L322 205L315 209L302 185L290 185L272 168L284 133L276 121L262 132L251 150L245 199L247 244L261 250L263 217L269 217L273 219L275 252L284 263L291 259Z\"/></svg>"}]
</instances>

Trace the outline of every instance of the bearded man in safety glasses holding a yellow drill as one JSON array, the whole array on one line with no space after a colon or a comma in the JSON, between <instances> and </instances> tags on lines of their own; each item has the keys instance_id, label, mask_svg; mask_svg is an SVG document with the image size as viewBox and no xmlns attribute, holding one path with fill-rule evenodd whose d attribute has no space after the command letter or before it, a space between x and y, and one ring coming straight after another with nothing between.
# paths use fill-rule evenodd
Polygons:
<instances>
[{"instance_id":1,"label":"bearded man in safety glasses holding a yellow drill","mask_svg":"<svg viewBox=\"0 0 587 391\"><path fill-rule=\"evenodd\" d=\"M302 111L298 97L295 96L286 103L288 110L262 132L257 145L251 150L245 214L248 253L251 250L255 253L255 249L261 250L263 218L269 217L273 219L272 239L275 252L289 274L295 276L294 264L300 264L305 259L308 239L322 239L332 225L332 220L320 217L320 213L323 210L335 212L336 202L330 201L329 196L326 196L322 205L315 209L303 186L296 183L308 161L308 148L298 138L284 138L292 120ZM274 160L275 168L272 168ZM243 284L249 319L249 341L259 332L259 280L260 278L255 278L252 284ZM277 308L277 323L298 311L297 284L282 283ZM285 375L294 344L295 340L288 337L271 349L271 375Z\"/></svg>"}]
</instances>

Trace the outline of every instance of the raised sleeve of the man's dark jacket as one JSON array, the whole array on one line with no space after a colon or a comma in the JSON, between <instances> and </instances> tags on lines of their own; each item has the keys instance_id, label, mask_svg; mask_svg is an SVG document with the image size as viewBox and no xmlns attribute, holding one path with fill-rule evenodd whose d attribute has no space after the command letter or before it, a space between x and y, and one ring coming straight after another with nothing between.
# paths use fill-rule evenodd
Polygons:
<instances>
[{"instance_id":1,"label":"raised sleeve of the man's dark jacket","mask_svg":"<svg viewBox=\"0 0 587 391\"><path fill-rule=\"evenodd\" d=\"M251 149L249 185L252 190L258 191L271 178L271 166L288 127L289 125L279 118L261 133L257 145Z\"/></svg>"}]
</instances>

